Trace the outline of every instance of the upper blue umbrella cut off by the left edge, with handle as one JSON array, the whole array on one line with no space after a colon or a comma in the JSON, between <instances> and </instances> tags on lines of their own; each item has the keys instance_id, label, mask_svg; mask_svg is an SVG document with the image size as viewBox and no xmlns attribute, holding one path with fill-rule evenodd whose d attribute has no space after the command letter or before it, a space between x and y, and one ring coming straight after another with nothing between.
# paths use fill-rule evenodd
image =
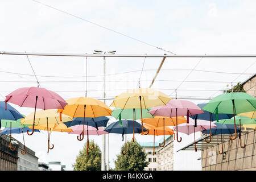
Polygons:
<instances>
[{"instance_id":1,"label":"upper blue umbrella cut off by the left edge, with handle","mask_svg":"<svg viewBox=\"0 0 256 182\"><path fill-rule=\"evenodd\" d=\"M6 106L8 105L8 109ZM16 120L23 118L23 115L19 113L13 106L7 104L6 102L0 101L0 129L1 129L1 119L5 119L6 121L10 121L10 125L12 122L16 122ZM11 131L11 130L10 130ZM11 133L10 133L11 138ZM16 150L16 147L11 147L11 140L10 140L10 150Z\"/></svg>"}]
</instances>

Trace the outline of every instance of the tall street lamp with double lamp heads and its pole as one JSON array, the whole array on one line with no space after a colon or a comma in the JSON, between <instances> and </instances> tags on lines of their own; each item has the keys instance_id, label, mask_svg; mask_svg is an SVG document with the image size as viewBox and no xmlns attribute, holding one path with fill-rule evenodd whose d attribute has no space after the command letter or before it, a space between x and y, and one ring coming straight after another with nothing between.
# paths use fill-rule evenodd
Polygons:
<instances>
[{"instance_id":1,"label":"tall street lamp with double lamp heads and its pole","mask_svg":"<svg viewBox=\"0 0 256 182\"><path fill-rule=\"evenodd\" d=\"M102 54L104 53L104 55L106 53L108 54L114 54L115 51L101 51L101 50L94 50L93 52L94 54ZM104 94L103 94L103 98L104 98L104 103L106 104L106 57L103 57L104 60L104 64L103 64L103 72L104 72L104 77L103 77L103 90L104 90ZM106 139L105 139L105 135L102 135L102 152L101 152L101 171L109 171L109 134L106 135L107 136L107 159L105 162L105 143L106 143Z\"/></svg>"}]
</instances>

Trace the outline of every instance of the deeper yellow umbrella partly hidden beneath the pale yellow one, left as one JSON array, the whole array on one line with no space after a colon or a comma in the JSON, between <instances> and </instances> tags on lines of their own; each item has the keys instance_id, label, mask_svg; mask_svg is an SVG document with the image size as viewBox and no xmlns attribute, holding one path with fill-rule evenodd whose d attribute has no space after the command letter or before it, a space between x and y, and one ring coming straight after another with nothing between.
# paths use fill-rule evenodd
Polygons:
<instances>
[{"instance_id":1,"label":"deeper yellow umbrella partly hidden beneath the pale yellow one, left","mask_svg":"<svg viewBox=\"0 0 256 182\"><path fill-rule=\"evenodd\" d=\"M33 126L29 126L28 128L32 129ZM59 125L57 124L50 124L50 125L35 125L34 128L36 130L46 130L47 135L48 135L48 151L49 149L52 149L54 147L54 144L52 144L52 148L49 147L49 140L51 138L51 133L52 131L58 131L58 132L72 132L73 130L69 127L67 127L65 124L60 123ZM48 134L48 131L50 131L50 134Z\"/></svg>"}]
</instances>

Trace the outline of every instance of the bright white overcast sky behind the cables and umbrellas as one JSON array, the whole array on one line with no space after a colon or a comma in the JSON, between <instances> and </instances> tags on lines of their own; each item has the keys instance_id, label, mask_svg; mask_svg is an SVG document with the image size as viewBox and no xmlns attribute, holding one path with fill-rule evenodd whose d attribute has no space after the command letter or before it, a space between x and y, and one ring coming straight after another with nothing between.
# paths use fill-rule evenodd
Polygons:
<instances>
[{"instance_id":1,"label":"bright white overcast sky behind the cables and umbrellas","mask_svg":"<svg viewBox=\"0 0 256 182\"><path fill-rule=\"evenodd\" d=\"M176 54L255 54L256 24L255 1L60 1L40 0L42 3L101 24L115 31L162 47ZM146 44L115 34L31 0L0 1L0 51L93 53L94 49L115 50L117 54L164 54ZM56 78L42 76L85 76L84 57L29 56L38 75L40 85L57 92L64 99L85 95L85 81L80 78ZM106 58L106 74L137 71L106 77L106 97L114 97L126 89L137 88L144 58ZM147 58L141 76L141 87L148 87L162 59ZM166 71L164 69L193 69L199 58L171 59L163 64L157 80L184 80L191 71ZM26 56L0 55L0 98L13 90L37 86L34 76L14 75L14 72L33 75ZM177 96L215 97L230 82L245 81L255 73L255 58L204 58L195 69L216 72L250 73L247 75L193 71L183 82ZM88 58L88 76L103 74L102 58ZM109 82L123 80L122 82ZM131 80L133 82L127 82ZM7 81L7 82L3 82ZM16 81L16 82L13 82ZM34 81L34 82L28 82ZM102 77L88 77L88 81L102 81ZM155 81L152 88L175 96L173 90L181 82ZM236 83L234 83L236 84ZM168 90L169 89L169 90ZM181 90L179 90L181 89ZM185 90L187 89L187 90ZM191 91L189 89L196 89ZM88 82L88 97L102 97L102 82ZM199 91L204 90L204 91ZM82 92L67 92L82 91ZM195 104L207 100L191 100ZM110 105L112 101L106 101ZM15 106L15 105L13 105ZM15 106L22 114L31 108ZM112 119L113 122L115 121ZM175 141L175 151L193 141L193 135ZM22 135L14 135L22 142ZM200 133L197 133L197 138ZM131 138L131 135L128 137ZM136 137L139 141L151 141L152 136ZM72 170L76 155L86 140L79 142L76 135L52 133L55 148L47 154L47 132L25 135L26 144L36 152L40 162L60 161ZM90 136L101 147L101 136ZM110 134L110 167L114 168L115 156L122 146L122 135ZM175 169L200 170L200 151L175 152Z\"/></svg>"}]
</instances>

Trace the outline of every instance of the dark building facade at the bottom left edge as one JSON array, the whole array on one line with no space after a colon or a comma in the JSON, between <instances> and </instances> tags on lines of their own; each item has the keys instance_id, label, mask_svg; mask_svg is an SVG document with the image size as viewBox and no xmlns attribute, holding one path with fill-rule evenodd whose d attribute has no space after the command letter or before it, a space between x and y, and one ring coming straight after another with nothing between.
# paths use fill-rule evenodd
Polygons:
<instances>
[{"instance_id":1,"label":"dark building facade at the bottom left edge","mask_svg":"<svg viewBox=\"0 0 256 182\"><path fill-rule=\"evenodd\" d=\"M18 144L12 142L13 147ZM0 135L0 171L16 171L18 163L18 150L10 150L10 140L7 135Z\"/></svg>"}]
</instances>

